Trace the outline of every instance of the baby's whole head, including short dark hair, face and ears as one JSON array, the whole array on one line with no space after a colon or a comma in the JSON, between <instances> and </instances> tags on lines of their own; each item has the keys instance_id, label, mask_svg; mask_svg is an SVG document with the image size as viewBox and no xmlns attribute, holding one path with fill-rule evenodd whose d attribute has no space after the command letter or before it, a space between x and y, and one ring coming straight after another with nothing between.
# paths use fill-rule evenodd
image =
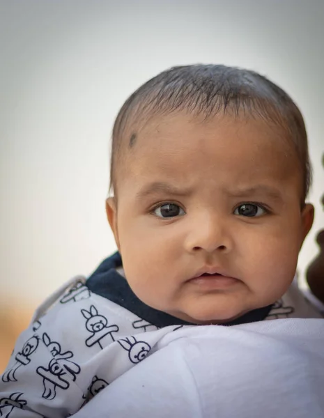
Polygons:
<instances>
[{"instance_id":1,"label":"baby's whole head, including short dark hair, face and ears","mask_svg":"<svg viewBox=\"0 0 324 418\"><path fill-rule=\"evenodd\" d=\"M107 216L132 291L193 323L272 304L313 221L307 134L291 98L224 65L171 68L113 130Z\"/></svg>"}]
</instances>

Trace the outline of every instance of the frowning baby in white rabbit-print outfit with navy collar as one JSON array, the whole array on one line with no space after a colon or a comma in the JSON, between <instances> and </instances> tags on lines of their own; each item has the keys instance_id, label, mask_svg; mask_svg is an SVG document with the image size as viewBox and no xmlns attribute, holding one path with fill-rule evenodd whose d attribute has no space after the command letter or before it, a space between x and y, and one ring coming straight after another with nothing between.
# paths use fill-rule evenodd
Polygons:
<instances>
[{"instance_id":1,"label":"frowning baby in white rabbit-print outfit with navy collar","mask_svg":"<svg viewBox=\"0 0 324 418\"><path fill-rule=\"evenodd\" d=\"M293 284L310 182L302 115L265 77L188 65L146 82L112 135L118 253L36 311L1 415L68 417L179 327L321 318Z\"/></svg>"}]
</instances>

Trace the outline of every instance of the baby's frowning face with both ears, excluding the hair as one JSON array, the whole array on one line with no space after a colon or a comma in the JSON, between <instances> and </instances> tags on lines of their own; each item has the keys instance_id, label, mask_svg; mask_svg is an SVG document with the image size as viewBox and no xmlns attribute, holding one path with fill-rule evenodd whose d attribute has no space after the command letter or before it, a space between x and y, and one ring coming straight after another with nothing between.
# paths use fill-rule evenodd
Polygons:
<instances>
[{"instance_id":1,"label":"baby's frowning face with both ears, excluding the hair","mask_svg":"<svg viewBox=\"0 0 324 418\"><path fill-rule=\"evenodd\" d=\"M300 166L280 135L256 118L185 114L137 132L107 212L140 300L222 323L286 292L312 207L300 209Z\"/></svg>"}]
</instances>

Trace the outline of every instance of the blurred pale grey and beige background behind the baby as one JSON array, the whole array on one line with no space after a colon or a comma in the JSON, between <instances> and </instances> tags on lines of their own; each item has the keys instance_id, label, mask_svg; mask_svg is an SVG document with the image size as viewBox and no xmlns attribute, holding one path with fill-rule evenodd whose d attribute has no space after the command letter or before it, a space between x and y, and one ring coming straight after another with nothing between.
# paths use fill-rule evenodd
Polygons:
<instances>
[{"instance_id":1,"label":"blurred pale grey and beige background behind the baby","mask_svg":"<svg viewBox=\"0 0 324 418\"><path fill-rule=\"evenodd\" d=\"M105 218L109 134L123 101L172 65L257 70L309 132L324 225L324 1L0 1L0 370L31 312L115 245ZM275 266L274 266L275 267Z\"/></svg>"}]
</instances>

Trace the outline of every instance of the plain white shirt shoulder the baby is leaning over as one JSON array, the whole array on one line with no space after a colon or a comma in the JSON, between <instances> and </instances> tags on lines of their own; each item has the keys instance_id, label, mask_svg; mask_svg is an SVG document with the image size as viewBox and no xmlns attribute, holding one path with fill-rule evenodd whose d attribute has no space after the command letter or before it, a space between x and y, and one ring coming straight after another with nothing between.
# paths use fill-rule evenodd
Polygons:
<instances>
[{"instance_id":1,"label":"plain white shirt shoulder the baby is leaning over","mask_svg":"<svg viewBox=\"0 0 324 418\"><path fill-rule=\"evenodd\" d=\"M75 418L323 418L324 320L196 327L112 382Z\"/></svg>"}]
</instances>

